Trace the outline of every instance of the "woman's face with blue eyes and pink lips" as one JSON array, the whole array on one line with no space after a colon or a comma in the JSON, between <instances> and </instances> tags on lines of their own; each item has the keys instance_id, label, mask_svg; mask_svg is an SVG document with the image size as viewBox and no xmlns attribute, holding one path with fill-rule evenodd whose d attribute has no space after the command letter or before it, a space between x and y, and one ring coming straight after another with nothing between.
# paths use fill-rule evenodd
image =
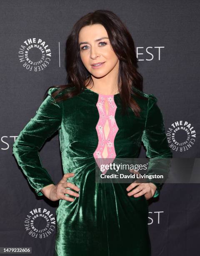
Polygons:
<instances>
[{"instance_id":1,"label":"woman's face with blue eyes and pink lips","mask_svg":"<svg viewBox=\"0 0 200 256\"><path fill-rule=\"evenodd\" d=\"M82 63L94 77L104 77L111 70L119 68L119 59L111 48L107 31L101 24L81 28L78 43ZM92 64L98 62L103 64L92 67Z\"/></svg>"}]
</instances>

